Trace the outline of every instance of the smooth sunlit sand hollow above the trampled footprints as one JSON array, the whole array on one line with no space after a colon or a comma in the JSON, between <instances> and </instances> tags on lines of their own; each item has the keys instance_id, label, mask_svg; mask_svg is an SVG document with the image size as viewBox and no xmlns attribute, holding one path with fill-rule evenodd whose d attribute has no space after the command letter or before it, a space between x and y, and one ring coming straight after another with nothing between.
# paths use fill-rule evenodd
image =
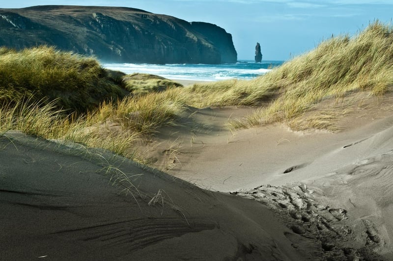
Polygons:
<instances>
[{"instance_id":1,"label":"smooth sunlit sand hollow above the trampled footprints","mask_svg":"<svg viewBox=\"0 0 393 261\"><path fill-rule=\"evenodd\" d=\"M244 109L240 115L246 112ZM336 134L296 133L281 124L239 130L232 134L225 129L224 122L235 113L239 114L238 109L203 109L196 116L199 117L197 122L213 120L205 126L208 131L190 134L187 132L189 129L181 129L172 131L172 137L165 136L161 141L176 140L180 152L177 155L179 164L169 173L197 186L218 191L303 181L367 157L372 153L370 146L364 146L362 151L349 147L344 150L343 147L393 125L392 118L358 119L366 123L358 123L362 126ZM291 167L302 170L288 172Z\"/></svg>"}]
</instances>

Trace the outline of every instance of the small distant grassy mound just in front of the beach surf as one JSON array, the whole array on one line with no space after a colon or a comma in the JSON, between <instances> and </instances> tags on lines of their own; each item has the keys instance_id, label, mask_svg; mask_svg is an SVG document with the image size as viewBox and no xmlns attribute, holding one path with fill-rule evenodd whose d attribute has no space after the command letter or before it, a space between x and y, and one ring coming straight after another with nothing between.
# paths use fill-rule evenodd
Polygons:
<instances>
[{"instance_id":1,"label":"small distant grassy mound just in front of the beach surf","mask_svg":"<svg viewBox=\"0 0 393 261\"><path fill-rule=\"evenodd\" d=\"M162 92L175 87L183 87L180 83L168 80L167 78L146 73L125 75L123 82L125 88L134 95Z\"/></svg>"}]
</instances>

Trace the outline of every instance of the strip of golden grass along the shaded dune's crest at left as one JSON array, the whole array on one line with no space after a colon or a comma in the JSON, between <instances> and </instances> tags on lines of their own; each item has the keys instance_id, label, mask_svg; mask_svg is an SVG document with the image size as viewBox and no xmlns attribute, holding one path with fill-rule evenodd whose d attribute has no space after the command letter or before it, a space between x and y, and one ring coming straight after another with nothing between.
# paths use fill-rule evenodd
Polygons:
<instances>
[{"instance_id":1,"label":"strip of golden grass along the shaded dune's crest at left","mask_svg":"<svg viewBox=\"0 0 393 261\"><path fill-rule=\"evenodd\" d=\"M75 115L66 116L64 111L56 110L55 101L43 104L41 101L26 102L20 99L12 104L4 104L0 107L0 134L9 130L45 139L78 142L141 160L132 147L139 133L99 122L95 114L77 118Z\"/></svg>"}]
</instances>

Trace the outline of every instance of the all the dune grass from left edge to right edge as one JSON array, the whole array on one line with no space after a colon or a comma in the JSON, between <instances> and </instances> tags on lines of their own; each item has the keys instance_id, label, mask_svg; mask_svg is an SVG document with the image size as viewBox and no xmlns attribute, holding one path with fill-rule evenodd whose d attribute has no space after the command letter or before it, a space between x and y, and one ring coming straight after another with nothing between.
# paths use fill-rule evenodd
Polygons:
<instances>
[{"instance_id":1,"label":"all the dune grass from left edge to right edge","mask_svg":"<svg viewBox=\"0 0 393 261\"><path fill-rule=\"evenodd\" d=\"M338 116L358 101L355 94L392 91L393 28L375 22L353 37L333 37L253 80L178 87L161 77L106 71L94 58L51 47L1 48L0 75L0 132L17 129L135 159L133 142L178 124L188 106L258 108L231 120L231 128L284 122L298 130L337 130Z\"/></svg>"}]
</instances>

